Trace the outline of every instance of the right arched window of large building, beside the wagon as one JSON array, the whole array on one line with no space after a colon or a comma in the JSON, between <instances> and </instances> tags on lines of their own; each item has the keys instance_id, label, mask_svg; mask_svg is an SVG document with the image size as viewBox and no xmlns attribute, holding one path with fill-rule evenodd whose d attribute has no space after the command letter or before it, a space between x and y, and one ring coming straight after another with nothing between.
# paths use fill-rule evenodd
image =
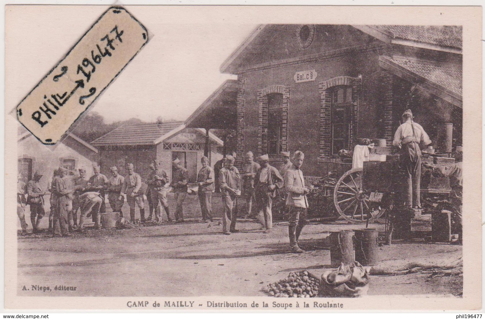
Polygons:
<instances>
[{"instance_id":1,"label":"right arched window of large building, beside the wagon","mask_svg":"<svg viewBox=\"0 0 485 319\"><path fill-rule=\"evenodd\" d=\"M352 87L338 85L331 88L331 154L339 154L341 149L350 149L350 129L352 123Z\"/></svg>"}]
</instances>

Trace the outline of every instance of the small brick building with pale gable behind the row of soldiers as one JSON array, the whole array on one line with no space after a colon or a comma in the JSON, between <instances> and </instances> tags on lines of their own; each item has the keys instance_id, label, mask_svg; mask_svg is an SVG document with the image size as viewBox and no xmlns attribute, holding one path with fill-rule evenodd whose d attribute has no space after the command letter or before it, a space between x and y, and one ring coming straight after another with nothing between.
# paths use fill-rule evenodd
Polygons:
<instances>
[{"instance_id":1,"label":"small brick building with pale gable behind the row of soldiers","mask_svg":"<svg viewBox=\"0 0 485 319\"><path fill-rule=\"evenodd\" d=\"M135 172L145 180L150 173L149 165L155 159L162 162L162 168L172 176L172 160L180 159L189 170L189 181L195 181L202 167L208 141L207 155L211 165L222 158L222 141L200 128L185 128L183 122L163 124L123 125L91 142L99 150L101 173L110 174L110 167L116 165L126 175L126 165L133 163Z\"/></svg>"}]
</instances>

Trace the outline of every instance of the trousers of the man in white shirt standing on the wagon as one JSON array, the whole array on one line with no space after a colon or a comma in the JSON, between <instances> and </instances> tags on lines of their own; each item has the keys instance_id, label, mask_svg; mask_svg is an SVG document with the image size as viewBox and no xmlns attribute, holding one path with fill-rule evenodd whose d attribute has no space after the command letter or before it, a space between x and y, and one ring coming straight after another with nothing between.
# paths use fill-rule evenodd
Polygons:
<instances>
[{"instance_id":1,"label":"trousers of the man in white shirt standing on the wagon","mask_svg":"<svg viewBox=\"0 0 485 319\"><path fill-rule=\"evenodd\" d=\"M421 206L421 150L416 142L404 144L399 155L404 173L403 201L407 207Z\"/></svg>"}]
</instances>

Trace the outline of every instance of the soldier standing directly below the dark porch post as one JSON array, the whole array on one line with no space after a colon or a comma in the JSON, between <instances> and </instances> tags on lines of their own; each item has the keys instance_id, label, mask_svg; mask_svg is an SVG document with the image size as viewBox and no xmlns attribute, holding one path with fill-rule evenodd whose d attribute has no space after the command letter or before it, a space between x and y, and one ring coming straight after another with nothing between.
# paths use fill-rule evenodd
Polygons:
<instances>
[{"instance_id":1,"label":"soldier standing directly below the dark porch post","mask_svg":"<svg viewBox=\"0 0 485 319\"><path fill-rule=\"evenodd\" d=\"M202 168L197 174L197 184L199 189L200 210L202 211L202 223L212 222L212 191L214 191L214 170L209 166L209 159L202 157L200 159Z\"/></svg>"}]
</instances>

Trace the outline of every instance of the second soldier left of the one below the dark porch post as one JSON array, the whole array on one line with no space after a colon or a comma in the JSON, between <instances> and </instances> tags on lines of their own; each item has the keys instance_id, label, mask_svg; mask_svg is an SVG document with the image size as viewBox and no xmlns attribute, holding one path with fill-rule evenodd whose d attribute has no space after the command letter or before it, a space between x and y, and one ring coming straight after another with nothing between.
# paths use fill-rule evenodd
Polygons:
<instances>
[{"instance_id":1,"label":"second soldier left of the one below the dark porch post","mask_svg":"<svg viewBox=\"0 0 485 319\"><path fill-rule=\"evenodd\" d=\"M162 169L162 163L154 162L155 170L148 176L148 185L151 186L150 195L152 198L153 206L155 207L155 221L159 222L162 218L161 208L159 203L165 209L167 214L167 221L171 222L170 208L168 208L167 194L169 191L168 182L169 178L167 172Z\"/></svg>"}]
</instances>

